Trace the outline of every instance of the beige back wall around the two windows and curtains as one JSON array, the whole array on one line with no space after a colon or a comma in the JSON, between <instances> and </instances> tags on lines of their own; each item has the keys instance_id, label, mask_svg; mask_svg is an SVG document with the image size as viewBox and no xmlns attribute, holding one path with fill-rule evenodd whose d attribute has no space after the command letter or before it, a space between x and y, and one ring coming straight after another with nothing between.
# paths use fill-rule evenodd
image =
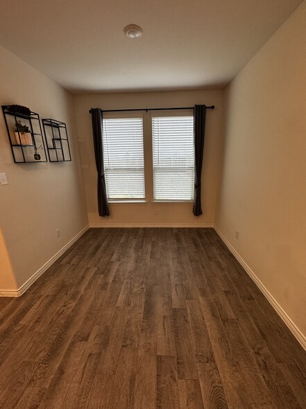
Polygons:
<instances>
[{"instance_id":1,"label":"beige back wall around the two windows and curtains","mask_svg":"<svg viewBox=\"0 0 306 409\"><path fill-rule=\"evenodd\" d=\"M88 218L91 225L212 225L216 202L216 181L219 172L222 134L223 91L182 91L156 93L124 93L103 95L78 95L74 97L76 124L80 144L83 177L87 200ZM144 115L144 154L146 167L147 203L111 204L110 217L101 218L97 212L96 166L92 144L90 108L138 109L194 106L194 104L214 104L214 111L207 111L205 157L203 165L203 215L192 214L191 203L154 204L151 173L151 125L150 115ZM158 216L155 216L158 209Z\"/></svg>"}]
</instances>

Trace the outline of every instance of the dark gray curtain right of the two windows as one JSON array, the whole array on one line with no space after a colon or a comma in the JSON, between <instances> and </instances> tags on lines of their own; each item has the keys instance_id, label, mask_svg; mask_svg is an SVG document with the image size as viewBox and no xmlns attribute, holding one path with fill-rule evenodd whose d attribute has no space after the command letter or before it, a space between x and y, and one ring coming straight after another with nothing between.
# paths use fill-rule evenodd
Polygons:
<instances>
[{"instance_id":1,"label":"dark gray curtain right of the two windows","mask_svg":"<svg viewBox=\"0 0 306 409\"><path fill-rule=\"evenodd\" d=\"M194 216L200 216L201 206L201 174L205 140L206 105L194 106Z\"/></svg>"}]
</instances>

